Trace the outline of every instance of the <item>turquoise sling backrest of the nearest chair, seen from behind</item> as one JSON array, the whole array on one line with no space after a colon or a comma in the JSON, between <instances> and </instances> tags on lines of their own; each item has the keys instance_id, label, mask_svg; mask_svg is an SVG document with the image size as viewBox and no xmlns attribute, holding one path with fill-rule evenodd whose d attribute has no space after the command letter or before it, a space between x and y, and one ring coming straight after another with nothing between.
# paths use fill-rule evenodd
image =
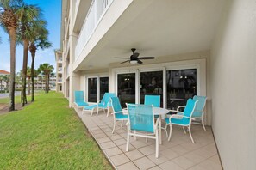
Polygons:
<instances>
[{"instance_id":1,"label":"turquoise sling backrest of the nearest chair, seen from behind","mask_svg":"<svg viewBox=\"0 0 256 170\"><path fill-rule=\"evenodd\" d=\"M127 104L131 131L154 133L153 106Z\"/></svg>"}]
</instances>

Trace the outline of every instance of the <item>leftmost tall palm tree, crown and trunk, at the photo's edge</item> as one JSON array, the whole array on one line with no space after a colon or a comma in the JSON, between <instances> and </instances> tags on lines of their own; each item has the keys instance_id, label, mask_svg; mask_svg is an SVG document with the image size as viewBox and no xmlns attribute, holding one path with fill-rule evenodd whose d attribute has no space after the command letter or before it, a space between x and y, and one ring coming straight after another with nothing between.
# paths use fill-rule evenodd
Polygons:
<instances>
[{"instance_id":1,"label":"leftmost tall palm tree, crown and trunk, at the photo's edge","mask_svg":"<svg viewBox=\"0 0 256 170\"><path fill-rule=\"evenodd\" d=\"M16 15L21 0L0 0L0 23L9 34L10 76L9 76L9 111L15 110L15 77L16 77L16 31L19 18Z\"/></svg>"}]
</instances>

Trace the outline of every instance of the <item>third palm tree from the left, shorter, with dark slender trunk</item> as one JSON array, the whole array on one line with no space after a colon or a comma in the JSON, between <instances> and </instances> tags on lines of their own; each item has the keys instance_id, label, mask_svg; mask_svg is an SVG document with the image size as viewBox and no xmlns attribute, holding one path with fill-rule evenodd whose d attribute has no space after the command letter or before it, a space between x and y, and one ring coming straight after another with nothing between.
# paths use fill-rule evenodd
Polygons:
<instances>
[{"instance_id":1,"label":"third palm tree from the left, shorter, with dark slender trunk","mask_svg":"<svg viewBox=\"0 0 256 170\"><path fill-rule=\"evenodd\" d=\"M47 40L48 31L46 27L46 21L37 21L38 24L32 27L34 32L34 36L30 39L29 52L31 53L32 61L31 61L31 81L32 81L32 94L31 94L31 102L34 101L34 58L35 52L38 48L44 50L52 46L50 42Z\"/></svg>"}]
</instances>

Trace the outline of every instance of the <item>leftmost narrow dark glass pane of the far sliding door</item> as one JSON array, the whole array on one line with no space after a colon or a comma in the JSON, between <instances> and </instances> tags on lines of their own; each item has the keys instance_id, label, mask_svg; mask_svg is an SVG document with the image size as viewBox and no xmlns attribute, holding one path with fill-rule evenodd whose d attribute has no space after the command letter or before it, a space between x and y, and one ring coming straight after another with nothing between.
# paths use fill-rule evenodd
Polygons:
<instances>
[{"instance_id":1,"label":"leftmost narrow dark glass pane of the far sliding door","mask_svg":"<svg viewBox=\"0 0 256 170\"><path fill-rule=\"evenodd\" d=\"M97 78L88 78L88 101L97 102Z\"/></svg>"}]
</instances>

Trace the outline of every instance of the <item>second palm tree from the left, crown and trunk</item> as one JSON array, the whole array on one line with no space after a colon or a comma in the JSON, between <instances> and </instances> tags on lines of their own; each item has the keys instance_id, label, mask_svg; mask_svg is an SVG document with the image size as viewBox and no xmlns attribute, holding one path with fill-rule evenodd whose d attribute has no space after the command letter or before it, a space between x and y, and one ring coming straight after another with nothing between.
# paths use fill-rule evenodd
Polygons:
<instances>
[{"instance_id":1,"label":"second palm tree from the left, crown and trunk","mask_svg":"<svg viewBox=\"0 0 256 170\"><path fill-rule=\"evenodd\" d=\"M31 30L33 25L37 24L36 20L41 13L41 9L34 5L23 4L21 8L17 10L17 15L20 18L20 27L18 29L19 42L23 44L23 66L22 66L22 106L27 104L26 97L26 77L27 77L27 67L28 67L28 46L29 39L33 37L34 32Z\"/></svg>"}]
</instances>

